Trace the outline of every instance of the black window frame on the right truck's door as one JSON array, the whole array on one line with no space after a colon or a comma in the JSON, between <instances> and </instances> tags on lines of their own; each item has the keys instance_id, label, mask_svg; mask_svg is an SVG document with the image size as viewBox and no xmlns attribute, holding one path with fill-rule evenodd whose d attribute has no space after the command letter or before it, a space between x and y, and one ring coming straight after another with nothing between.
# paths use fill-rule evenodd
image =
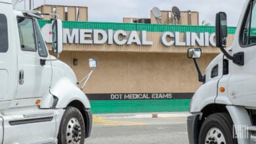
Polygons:
<instances>
[{"instance_id":1,"label":"black window frame on the right truck's door","mask_svg":"<svg viewBox=\"0 0 256 144\"><path fill-rule=\"evenodd\" d=\"M249 42L249 38L250 38L250 35L251 35L251 15L252 15L252 10L253 10L253 3L255 2L254 1L250 1L250 3L247 5L247 9L246 9L246 12L244 14L244 18L243 18L243 23L242 23L242 26L240 27L240 33L239 33L239 45L242 47L242 48L247 48L247 47L251 47L251 46L255 46L256 43L252 43L252 44L249 44L248 45L248 42ZM255 2L255 9L256 9L256 2ZM247 22L247 18L249 18L249 35L248 35L248 40L247 40L247 44L244 45L242 43L242 39L243 39L243 34L244 34L244 26Z\"/></svg>"}]
</instances>

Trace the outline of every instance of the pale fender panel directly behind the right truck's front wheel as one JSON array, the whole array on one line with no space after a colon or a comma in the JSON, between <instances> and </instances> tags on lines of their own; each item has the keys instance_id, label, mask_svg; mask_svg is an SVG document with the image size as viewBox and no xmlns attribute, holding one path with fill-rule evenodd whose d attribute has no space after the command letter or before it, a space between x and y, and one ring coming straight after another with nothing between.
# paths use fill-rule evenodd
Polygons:
<instances>
[{"instance_id":1,"label":"pale fender panel directly behind the right truck's front wheel","mask_svg":"<svg viewBox=\"0 0 256 144\"><path fill-rule=\"evenodd\" d=\"M232 118L232 121L234 123L234 126L240 126L240 128L236 128L236 134L238 135L238 143L246 144L250 143L249 137L245 138L245 130L242 129L242 126L251 126L251 119L244 107L241 106L234 106L234 105L228 105L226 106L226 109L228 109L228 113L230 114L230 117ZM239 137L240 135L240 137ZM244 135L244 137L242 137Z\"/></svg>"}]
</instances>

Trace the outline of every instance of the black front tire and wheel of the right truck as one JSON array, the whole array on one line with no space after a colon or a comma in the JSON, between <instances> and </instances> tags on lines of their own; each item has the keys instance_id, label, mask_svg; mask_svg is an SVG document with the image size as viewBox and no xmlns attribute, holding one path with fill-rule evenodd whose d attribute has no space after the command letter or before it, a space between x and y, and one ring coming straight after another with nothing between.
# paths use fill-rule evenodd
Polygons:
<instances>
[{"instance_id":1,"label":"black front tire and wheel of the right truck","mask_svg":"<svg viewBox=\"0 0 256 144\"><path fill-rule=\"evenodd\" d=\"M227 113L215 113L209 115L200 128L198 137L200 144L237 144L233 137L233 122Z\"/></svg>"}]
</instances>

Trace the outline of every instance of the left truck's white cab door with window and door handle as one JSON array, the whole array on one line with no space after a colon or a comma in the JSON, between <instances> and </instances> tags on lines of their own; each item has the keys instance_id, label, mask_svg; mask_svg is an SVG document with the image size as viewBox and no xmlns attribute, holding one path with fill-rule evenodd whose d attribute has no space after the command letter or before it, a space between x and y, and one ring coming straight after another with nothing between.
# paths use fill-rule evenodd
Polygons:
<instances>
[{"instance_id":1,"label":"left truck's white cab door with window and door handle","mask_svg":"<svg viewBox=\"0 0 256 144\"><path fill-rule=\"evenodd\" d=\"M51 62L37 20L17 17L20 47L18 48L18 90L16 99L39 98L49 92Z\"/></svg>"}]
</instances>

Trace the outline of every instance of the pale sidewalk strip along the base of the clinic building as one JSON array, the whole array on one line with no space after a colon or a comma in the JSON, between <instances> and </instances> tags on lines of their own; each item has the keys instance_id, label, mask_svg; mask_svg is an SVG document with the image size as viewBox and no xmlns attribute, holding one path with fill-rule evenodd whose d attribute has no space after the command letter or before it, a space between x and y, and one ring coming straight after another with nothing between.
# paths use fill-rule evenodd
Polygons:
<instances>
[{"instance_id":1,"label":"pale sidewalk strip along the base of the clinic building","mask_svg":"<svg viewBox=\"0 0 256 144\"><path fill-rule=\"evenodd\" d=\"M163 117L188 117L188 112L156 112L156 113L104 113L93 114L98 118L163 118Z\"/></svg>"}]
</instances>

